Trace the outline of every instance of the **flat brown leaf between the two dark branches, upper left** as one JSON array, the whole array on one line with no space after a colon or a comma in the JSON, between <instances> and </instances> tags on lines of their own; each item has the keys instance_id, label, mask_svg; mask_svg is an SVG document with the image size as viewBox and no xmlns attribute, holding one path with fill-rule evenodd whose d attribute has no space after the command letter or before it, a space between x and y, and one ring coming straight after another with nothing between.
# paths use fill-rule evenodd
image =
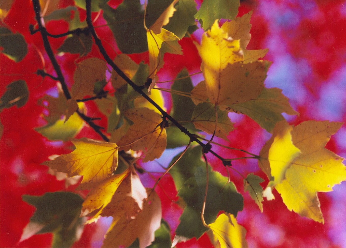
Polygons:
<instances>
[{"instance_id":1,"label":"flat brown leaf between the two dark branches, upper left","mask_svg":"<svg viewBox=\"0 0 346 248\"><path fill-rule=\"evenodd\" d=\"M106 62L98 58L87 58L78 63L73 75L72 98L77 100L93 95L95 83L106 78L106 68Z\"/></svg>"}]
</instances>

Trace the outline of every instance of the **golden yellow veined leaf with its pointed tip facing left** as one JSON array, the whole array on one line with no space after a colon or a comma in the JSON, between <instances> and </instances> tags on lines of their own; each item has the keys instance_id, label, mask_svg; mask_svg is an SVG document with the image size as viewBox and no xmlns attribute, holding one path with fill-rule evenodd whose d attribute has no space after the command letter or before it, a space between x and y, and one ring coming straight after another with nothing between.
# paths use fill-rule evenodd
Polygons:
<instances>
[{"instance_id":1,"label":"golden yellow veined leaf with its pointed tip facing left","mask_svg":"<svg viewBox=\"0 0 346 248\"><path fill-rule=\"evenodd\" d=\"M74 140L76 149L42 164L67 173L68 177L83 175L79 189L90 189L111 175L118 165L118 146L115 143L92 139Z\"/></svg>"}]
</instances>

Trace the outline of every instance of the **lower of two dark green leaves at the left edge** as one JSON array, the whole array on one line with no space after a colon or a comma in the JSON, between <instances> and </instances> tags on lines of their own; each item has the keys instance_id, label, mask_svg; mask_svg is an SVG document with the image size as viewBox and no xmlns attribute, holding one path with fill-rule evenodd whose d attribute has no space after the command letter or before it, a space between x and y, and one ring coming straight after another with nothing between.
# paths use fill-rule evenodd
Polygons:
<instances>
[{"instance_id":1,"label":"lower of two dark green leaves at the left edge","mask_svg":"<svg viewBox=\"0 0 346 248\"><path fill-rule=\"evenodd\" d=\"M6 86L6 92L0 98L0 111L17 105L24 106L29 98L29 89L24 80L17 80Z\"/></svg>"}]
</instances>

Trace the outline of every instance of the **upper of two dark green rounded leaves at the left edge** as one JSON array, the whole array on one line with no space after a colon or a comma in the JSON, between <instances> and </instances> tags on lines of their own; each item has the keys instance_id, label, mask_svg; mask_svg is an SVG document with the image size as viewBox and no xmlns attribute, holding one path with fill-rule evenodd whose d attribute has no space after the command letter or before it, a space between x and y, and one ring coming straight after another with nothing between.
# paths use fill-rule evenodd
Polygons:
<instances>
[{"instance_id":1,"label":"upper of two dark green rounded leaves at the left edge","mask_svg":"<svg viewBox=\"0 0 346 248\"><path fill-rule=\"evenodd\" d=\"M0 46L3 48L1 53L16 62L21 61L28 53L24 36L4 27L0 27Z\"/></svg>"}]
</instances>

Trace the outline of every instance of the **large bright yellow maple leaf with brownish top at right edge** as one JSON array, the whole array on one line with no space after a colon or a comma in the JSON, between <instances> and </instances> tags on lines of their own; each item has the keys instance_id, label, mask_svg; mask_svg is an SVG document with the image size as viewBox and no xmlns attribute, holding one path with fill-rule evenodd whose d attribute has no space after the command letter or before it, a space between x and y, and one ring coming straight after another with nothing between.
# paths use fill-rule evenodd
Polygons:
<instances>
[{"instance_id":1,"label":"large bright yellow maple leaf with brownish top at right edge","mask_svg":"<svg viewBox=\"0 0 346 248\"><path fill-rule=\"evenodd\" d=\"M343 158L325 148L330 136L341 125L328 121L306 121L291 127L280 122L260 153L261 169L265 168L265 173L272 180L268 186L275 187L287 208L321 223L324 219L317 192L332 191L335 184L346 180ZM277 143L278 139L282 144ZM286 141L283 142L283 139ZM299 150L300 154L297 155L294 150ZM266 159L269 162L265 162Z\"/></svg>"}]
</instances>

